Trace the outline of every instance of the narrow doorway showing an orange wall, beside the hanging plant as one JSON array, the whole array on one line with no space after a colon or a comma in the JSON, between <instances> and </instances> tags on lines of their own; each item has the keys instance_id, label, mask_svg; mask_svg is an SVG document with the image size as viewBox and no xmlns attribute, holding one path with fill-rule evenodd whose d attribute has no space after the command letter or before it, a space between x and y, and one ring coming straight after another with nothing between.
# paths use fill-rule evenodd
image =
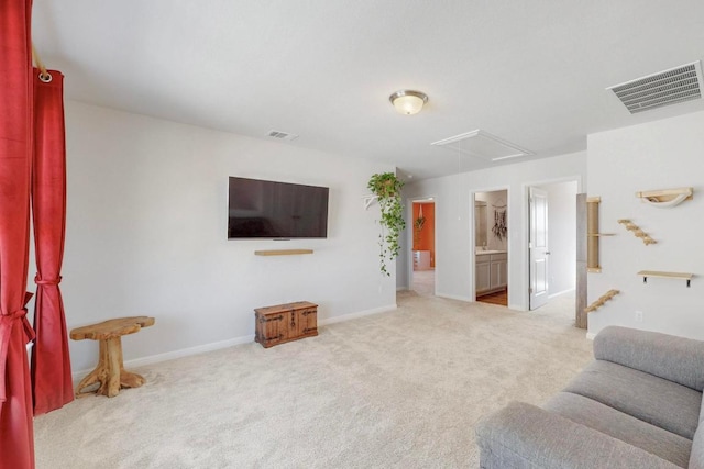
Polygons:
<instances>
[{"instance_id":1,"label":"narrow doorway showing an orange wall, beside the hanging plant","mask_svg":"<svg viewBox=\"0 0 704 469\"><path fill-rule=\"evenodd\" d=\"M414 200L410 216L410 289L421 297L436 294L436 202Z\"/></svg>"}]
</instances>

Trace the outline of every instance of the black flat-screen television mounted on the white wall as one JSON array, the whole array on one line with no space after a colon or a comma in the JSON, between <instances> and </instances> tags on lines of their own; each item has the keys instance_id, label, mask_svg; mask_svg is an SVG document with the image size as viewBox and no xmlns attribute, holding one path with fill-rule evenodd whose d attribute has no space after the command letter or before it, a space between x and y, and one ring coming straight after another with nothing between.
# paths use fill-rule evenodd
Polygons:
<instances>
[{"instance_id":1,"label":"black flat-screen television mounted on the white wall","mask_svg":"<svg viewBox=\"0 0 704 469\"><path fill-rule=\"evenodd\" d=\"M328 237L329 189L230 177L228 239Z\"/></svg>"}]
</instances>

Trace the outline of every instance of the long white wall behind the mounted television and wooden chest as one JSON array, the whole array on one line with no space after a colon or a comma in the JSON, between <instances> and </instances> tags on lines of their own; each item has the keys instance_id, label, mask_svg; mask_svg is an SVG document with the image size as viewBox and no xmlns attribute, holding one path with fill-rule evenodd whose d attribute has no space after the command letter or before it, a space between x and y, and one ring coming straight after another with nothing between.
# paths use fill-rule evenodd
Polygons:
<instances>
[{"instance_id":1,"label":"long white wall behind the mounted television and wooden chest","mask_svg":"<svg viewBox=\"0 0 704 469\"><path fill-rule=\"evenodd\" d=\"M155 316L123 338L134 359L251 340L258 306L307 300L321 322L394 308L394 265L391 278L378 271L378 210L362 201L370 176L393 167L72 101L66 125L69 328ZM228 241L229 176L329 187L328 239ZM254 255L267 248L315 254ZM74 370L95 365L91 340L70 349Z\"/></svg>"}]
</instances>

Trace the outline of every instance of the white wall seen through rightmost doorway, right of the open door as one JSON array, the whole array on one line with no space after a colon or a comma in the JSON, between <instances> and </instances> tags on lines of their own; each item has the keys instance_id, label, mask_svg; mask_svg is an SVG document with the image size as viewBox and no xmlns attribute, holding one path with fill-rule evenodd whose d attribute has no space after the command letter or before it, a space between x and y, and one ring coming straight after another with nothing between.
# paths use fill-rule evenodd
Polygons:
<instances>
[{"instance_id":1,"label":"white wall seen through rightmost doorway, right of the open door","mask_svg":"<svg viewBox=\"0 0 704 469\"><path fill-rule=\"evenodd\" d=\"M540 186L548 192L548 294L574 290L576 281L576 181Z\"/></svg>"}]
</instances>

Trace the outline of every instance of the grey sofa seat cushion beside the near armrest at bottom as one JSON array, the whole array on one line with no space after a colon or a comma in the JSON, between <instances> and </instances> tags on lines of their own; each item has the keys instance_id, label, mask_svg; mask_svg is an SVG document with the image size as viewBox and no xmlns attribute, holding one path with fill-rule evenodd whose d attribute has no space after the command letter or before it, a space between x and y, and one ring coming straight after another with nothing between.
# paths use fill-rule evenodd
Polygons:
<instances>
[{"instance_id":1,"label":"grey sofa seat cushion beside the near armrest at bottom","mask_svg":"<svg viewBox=\"0 0 704 469\"><path fill-rule=\"evenodd\" d=\"M691 440L583 395L560 392L542 407L680 467L690 461Z\"/></svg>"}]
</instances>

